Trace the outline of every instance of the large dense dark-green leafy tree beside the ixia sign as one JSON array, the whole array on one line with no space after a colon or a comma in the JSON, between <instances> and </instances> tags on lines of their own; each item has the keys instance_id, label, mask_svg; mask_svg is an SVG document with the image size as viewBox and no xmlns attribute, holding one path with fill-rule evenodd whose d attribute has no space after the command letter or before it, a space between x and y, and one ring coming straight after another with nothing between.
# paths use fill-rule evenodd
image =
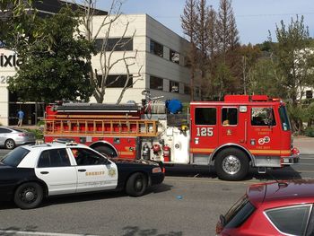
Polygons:
<instances>
[{"instance_id":1,"label":"large dense dark-green leafy tree beside the ixia sign","mask_svg":"<svg viewBox=\"0 0 314 236\"><path fill-rule=\"evenodd\" d=\"M78 31L78 14L68 8L37 18L28 40L16 51L23 59L9 90L22 101L85 100L92 95L89 82L92 44Z\"/></svg>"}]
</instances>

